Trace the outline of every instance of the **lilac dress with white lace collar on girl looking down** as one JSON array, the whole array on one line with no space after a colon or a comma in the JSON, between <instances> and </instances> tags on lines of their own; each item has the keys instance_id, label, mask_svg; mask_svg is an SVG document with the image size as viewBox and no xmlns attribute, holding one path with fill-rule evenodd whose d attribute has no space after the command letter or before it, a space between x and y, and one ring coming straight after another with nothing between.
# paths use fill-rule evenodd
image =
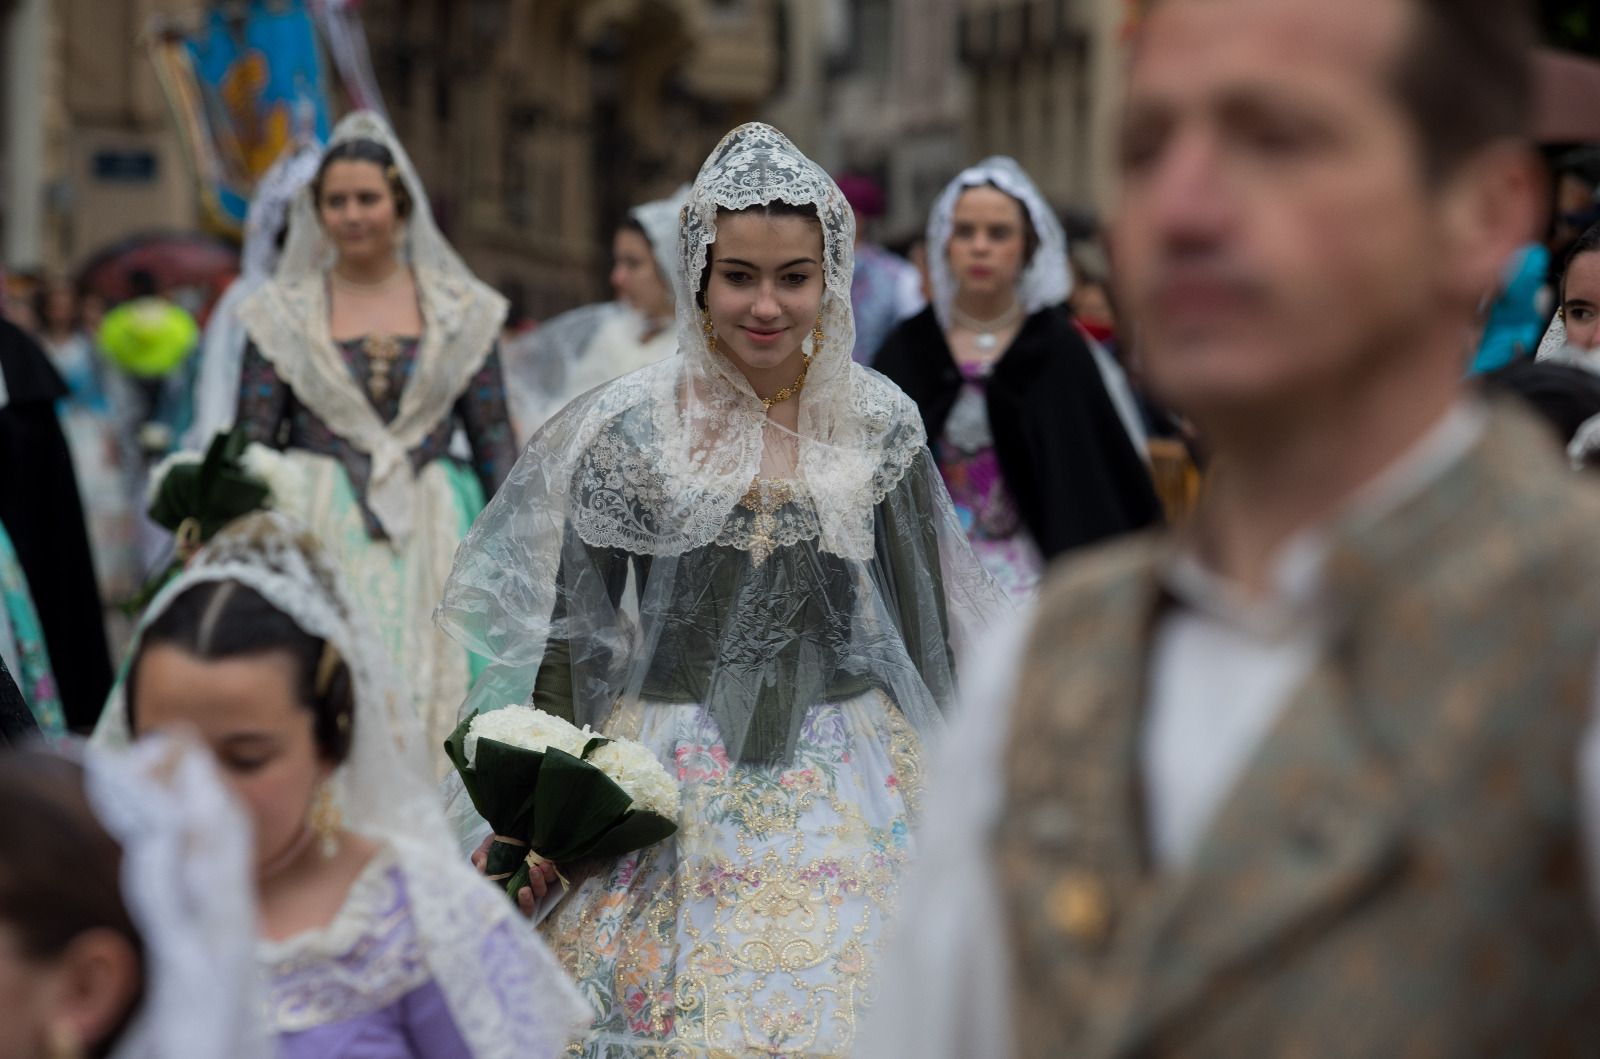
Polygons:
<instances>
[{"instance_id":1,"label":"lilac dress with white lace collar on girl looking down","mask_svg":"<svg viewBox=\"0 0 1600 1059\"><path fill-rule=\"evenodd\" d=\"M470 1059L418 944L405 877L386 848L334 920L261 942L282 1059Z\"/></svg>"}]
</instances>

